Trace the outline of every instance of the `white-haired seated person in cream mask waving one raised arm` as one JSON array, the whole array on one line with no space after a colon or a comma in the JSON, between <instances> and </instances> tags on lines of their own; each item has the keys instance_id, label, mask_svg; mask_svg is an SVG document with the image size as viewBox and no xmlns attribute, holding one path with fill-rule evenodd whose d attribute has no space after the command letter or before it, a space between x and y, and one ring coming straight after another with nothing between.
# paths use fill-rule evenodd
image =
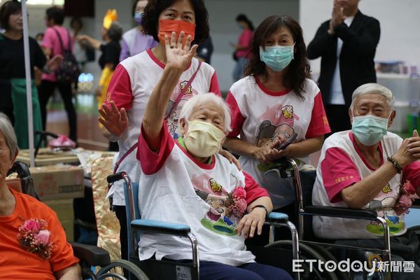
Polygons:
<instances>
[{"instance_id":1,"label":"white-haired seated person in cream mask waving one raised arm","mask_svg":"<svg viewBox=\"0 0 420 280\"><path fill-rule=\"evenodd\" d=\"M199 94L181 111L174 140L164 113L174 87L193 58L191 37L183 46L165 36L167 64L155 86L141 125L139 205L142 218L189 225L200 241L200 279L291 279L283 270L254 261L244 239L260 234L272 211L267 192L218 155L230 131L230 111L215 94ZM192 260L187 239L141 235L140 260Z\"/></svg>"}]
</instances>

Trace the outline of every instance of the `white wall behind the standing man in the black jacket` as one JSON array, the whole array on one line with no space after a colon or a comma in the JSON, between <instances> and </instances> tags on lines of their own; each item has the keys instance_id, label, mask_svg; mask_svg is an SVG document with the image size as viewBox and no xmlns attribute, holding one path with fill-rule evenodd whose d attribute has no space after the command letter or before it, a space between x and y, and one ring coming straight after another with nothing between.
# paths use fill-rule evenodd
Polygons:
<instances>
[{"instance_id":1,"label":"white wall behind the standing man in the black jacket","mask_svg":"<svg viewBox=\"0 0 420 280\"><path fill-rule=\"evenodd\" d=\"M359 8L381 24L376 60L403 60L420 66L420 1L360 0ZM332 0L300 0L300 25L308 44L322 22L331 18ZM320 59L311 62L317 75Z\"/></svg>"}]
</instances>

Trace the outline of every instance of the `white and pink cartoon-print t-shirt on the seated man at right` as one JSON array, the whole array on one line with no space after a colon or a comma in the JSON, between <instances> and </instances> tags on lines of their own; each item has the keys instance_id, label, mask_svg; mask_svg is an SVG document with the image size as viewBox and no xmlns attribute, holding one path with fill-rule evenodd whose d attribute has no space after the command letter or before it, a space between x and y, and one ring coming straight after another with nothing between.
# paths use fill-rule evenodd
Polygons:
<instances>
[{"instance_id":1,"label":"white and pink cartoon-print t-shirt on the seated man at right","mask_svg":"<svg viewBox=\"0 0 420 280\"><path fill-rule=\"evenodd\" d=\"M402 139L388 132L379 142L381 165L400 148ZM360 153L351 131L337 132L325 140L316 172L316 182L312 190L314 205L347 207L341 191L361 181L376 169L370 167ZM404 214L398 215L393 209L400 194L402 177L414 187L420 186L420 162L416 161L396 174L382 191L364 209L374 209L378 216L386 220L390 235L403 235L407 231ZM314 216L314 233L317 237L329 239L373 239L383 236L384 228L375 221L354 220Z\"/></svg>"}]
</instances>

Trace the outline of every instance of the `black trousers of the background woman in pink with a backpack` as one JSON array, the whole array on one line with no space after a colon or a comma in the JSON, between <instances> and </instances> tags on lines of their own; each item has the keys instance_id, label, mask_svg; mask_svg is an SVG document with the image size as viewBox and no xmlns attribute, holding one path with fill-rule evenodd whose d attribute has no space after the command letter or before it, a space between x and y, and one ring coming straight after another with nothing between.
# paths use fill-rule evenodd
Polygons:
<instances>
[{"instance_id":1,"label":"black trousers of the background woman in pink with a backpack","mask_svg":"<svg viewBox=\"0 0 420 280\"><path fill-rule=\"evenodd\" d=\"M42 80L42 83L39 87L39 104L41 106L41 115L42 115L42 126L45 130L47 124L47 104L51 95L54 93L55 87L58 88L59 94L61 95L64 108L67 112L67 118L69 119L69 138L73 141L77 141L77 116L76 110L73 106L73 101L71 100L71 85L63 84L57 82L51 82L50 80Z\"/></svg>"}]
</instances>

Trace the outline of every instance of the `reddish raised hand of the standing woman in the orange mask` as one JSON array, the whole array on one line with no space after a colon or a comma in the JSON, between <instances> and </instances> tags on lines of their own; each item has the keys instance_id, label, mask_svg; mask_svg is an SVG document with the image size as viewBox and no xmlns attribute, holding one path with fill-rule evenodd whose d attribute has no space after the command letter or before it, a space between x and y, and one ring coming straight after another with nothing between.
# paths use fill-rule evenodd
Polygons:
<instances>
[{"instance_id":1,"label":"reddish raised hand of the standing woman in the orange mask","mask_svg":"<svg viewBox=\"0 0 420 280\"><path fill-rule=\"evenodd\" d=\"M98 118L99 123L102 123L106 130L116 137L120 137L128 128L127 112L124 108L118 111L116 104L111 101L111 108L102 104L98 110L101 117Z\"/></svg>"}]
</instances>

